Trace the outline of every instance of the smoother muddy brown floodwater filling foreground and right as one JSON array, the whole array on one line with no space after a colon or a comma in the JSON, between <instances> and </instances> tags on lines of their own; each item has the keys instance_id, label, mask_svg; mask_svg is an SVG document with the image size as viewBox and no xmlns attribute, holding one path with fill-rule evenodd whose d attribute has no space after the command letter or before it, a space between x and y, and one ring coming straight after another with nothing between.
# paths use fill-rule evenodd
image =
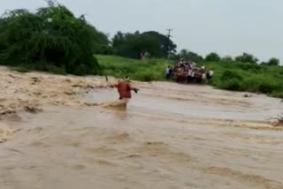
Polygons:
<instances>
[{"instance_id":1,"label":"smoother muddy brown floodwater filling foreground and right","mask_svg":"<svg viewBox=\"0 0 283 189\"><path fill-rule=\"evenodd\" d=\"M4 122L1 189L282 189L283 103L211 87L140 84L127 109L44 105ZM110 88L78 98L117 99ZM0 133L1 134L1 133Z\"/></svg>"}]
</instances>

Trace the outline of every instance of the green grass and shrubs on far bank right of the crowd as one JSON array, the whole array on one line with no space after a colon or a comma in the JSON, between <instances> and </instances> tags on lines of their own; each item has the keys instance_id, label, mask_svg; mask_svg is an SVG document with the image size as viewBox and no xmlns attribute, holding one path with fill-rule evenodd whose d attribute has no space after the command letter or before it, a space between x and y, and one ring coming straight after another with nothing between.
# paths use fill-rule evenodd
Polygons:
<instances>
[{"instance_id":1,"label":"green grass and shrubs on far bank right of the crowd","mask_svg":"<svg viewBox=\"0 0 283 189\"><path fill-rule=\"evenodd\" d=\"M204 65L215 72L209 83L213 87L283 98L282 66L241 62L210 62Z\"/></svg>"}]
</instances>

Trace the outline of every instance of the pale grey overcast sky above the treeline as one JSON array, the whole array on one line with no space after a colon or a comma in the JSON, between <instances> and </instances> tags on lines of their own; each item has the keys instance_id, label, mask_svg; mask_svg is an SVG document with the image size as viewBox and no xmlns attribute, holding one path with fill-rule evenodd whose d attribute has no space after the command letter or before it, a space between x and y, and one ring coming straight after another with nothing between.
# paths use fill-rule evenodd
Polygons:
<instances>
[{"instance_id":1,"label":"pale grey overcast sky above the treeline","mask_svg":"<svg viewBox=\"0 0 283 189\"><path fill-rule=\"evenodd\" d=\"M249 52L283 61L282 0L57 0L107 34L155 30L178 49L221 56ZM0 11L35 10L43 0L1 0Z\"/></svg>"}]
</instances>

